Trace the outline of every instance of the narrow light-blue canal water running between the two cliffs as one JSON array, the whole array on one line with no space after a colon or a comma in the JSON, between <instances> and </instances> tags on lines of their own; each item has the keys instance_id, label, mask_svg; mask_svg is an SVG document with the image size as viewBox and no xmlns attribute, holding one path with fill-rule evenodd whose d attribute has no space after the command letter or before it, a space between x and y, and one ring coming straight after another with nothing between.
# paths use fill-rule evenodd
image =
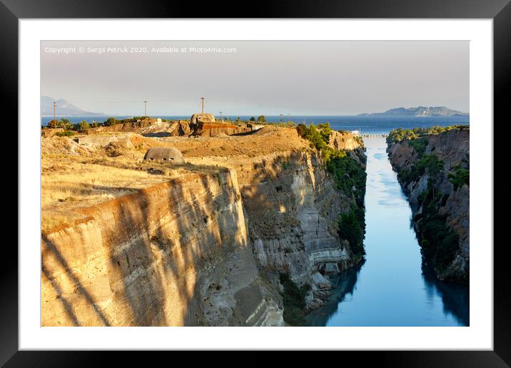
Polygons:
<instances>
[{"instance_id":1,"label":"narrow light-blue canal water running between the two cliffs","mask_svg":"<svg viewBox=\"0 0 511 368\"><path fill-rule=\"evenodd\" d=\"M436 280L423 260L385 138L366 139L365 146L365 262L330 279L335 288L308 324L467 326L469 287Z\"/></svg>"}]
</instances>

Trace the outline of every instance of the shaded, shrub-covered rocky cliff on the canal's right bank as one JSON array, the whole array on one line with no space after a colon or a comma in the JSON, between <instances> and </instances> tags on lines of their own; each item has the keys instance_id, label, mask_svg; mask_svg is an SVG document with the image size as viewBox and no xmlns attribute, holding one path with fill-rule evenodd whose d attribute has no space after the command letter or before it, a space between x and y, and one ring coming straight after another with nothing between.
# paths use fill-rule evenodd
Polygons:
<instances>
[{"instance_id":1,"label":"shaded, shrub-covered rocky cliff on the canal's right bank","mask_svg":"<svg viewBox=\"0 0 511 368\"><path fill-rule=\"evenodd\" d=\"M390 142L387 149L410 200L423 250L429 252L441 280L469 279L469 141L468 128L454 128ZM437 238L440 234L442 239Z\"/></svg>"}]
</instances>

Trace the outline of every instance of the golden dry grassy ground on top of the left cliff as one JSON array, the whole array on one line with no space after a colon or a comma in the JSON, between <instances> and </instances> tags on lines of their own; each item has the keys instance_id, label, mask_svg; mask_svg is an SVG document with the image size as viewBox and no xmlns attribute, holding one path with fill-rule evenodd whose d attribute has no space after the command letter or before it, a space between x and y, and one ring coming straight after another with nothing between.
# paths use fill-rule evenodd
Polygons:
<instances>
[{"instance_id":1,"label":"golden dry grassy ground on top of the left cliff","mask_svg":"<svg viewBox=\"0 0 511 368\"><path fill-rule=\"evenodd\" d=\"M106 134L115 134L108 132ZM80 220L79 208L128 195L136 190L178 178L185 173L215 173L221 163L187 163L179 166L143 161L147 148L175 147L185 157L258 155L289 148L303 148L295 129L263 128L248 136L219 138L147 138L134 134L132 148L122 155L108 157L105 148L76 143L69 138L43 138L41 141L41 226L43 230ZM213 158L213 157L212 157ZM156 175L155 175L156 174Z\"/></svg>"}]
</instances>

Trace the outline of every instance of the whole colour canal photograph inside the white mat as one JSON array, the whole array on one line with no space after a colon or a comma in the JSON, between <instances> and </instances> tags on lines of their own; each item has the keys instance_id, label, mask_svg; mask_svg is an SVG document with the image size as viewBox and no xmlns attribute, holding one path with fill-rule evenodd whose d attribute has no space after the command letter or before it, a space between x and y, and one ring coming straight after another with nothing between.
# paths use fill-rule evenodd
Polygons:
<instances>
[{"instance_id":1,"label":"whole colour canal photograph inside the white mat","mask_svg":"<svg viewBox=\"0 0 511 368\"><path fill-rule=\"evenodd\" d=\"M41 39L40 326L469 329L470 42Z\"/></svg>"}]
</instances>

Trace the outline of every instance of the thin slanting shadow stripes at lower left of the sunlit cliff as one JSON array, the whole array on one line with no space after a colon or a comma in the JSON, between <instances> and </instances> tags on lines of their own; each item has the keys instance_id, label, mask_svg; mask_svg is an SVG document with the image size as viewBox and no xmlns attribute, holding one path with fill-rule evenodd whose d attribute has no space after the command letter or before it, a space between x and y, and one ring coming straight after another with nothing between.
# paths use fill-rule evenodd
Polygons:
<instances>
[{"instance_id":1,"label":"thin slanting shadow stripes at lower left of the sunlit cliff","mask_svg":"<svg viewBox=\"0 0 511 368\"><path fill-rule=\"evenodd\" d=\"M79 295L81 295L81 297L84 297L84 299L88 302L89 305L91 305L93 312L96 313L97 317L103 322L103 324L105 324L106 326L110 326L111 324L110 322L108 322L106 316L98 308L96 302L94 302L93 300L93 297L87 292L84 285L82 285L81 281L79 280L79 277L76 276L74 272L71 270L71 267L69 267L68 262L66 262L64 257L61 255L61 252L59 252L54 243L51 242L51 240L49 240L48 237L46 237L46 235L42 235L42 240L45 244L46 250L49 250L50 252L53 253L57 262L59 262L59 265L62 267L62 270L66 272L66 275L73 282L75 290L79 293ZM64 310L66 311L68 317L71 319L71 321L73 321L75 326L79 326L80 325L79 318L76 316L73 307L71 306L71 302L69 302L68 300L66 300L64 296L62 296L61 287L47 269L44 259L42 260L41 270L43 272L43 275L46 276L51 285L54 287L57 293L57 297L59 298L59 301L62 303L62 306L64 307Z\"/></svg>"}]
</instances>

